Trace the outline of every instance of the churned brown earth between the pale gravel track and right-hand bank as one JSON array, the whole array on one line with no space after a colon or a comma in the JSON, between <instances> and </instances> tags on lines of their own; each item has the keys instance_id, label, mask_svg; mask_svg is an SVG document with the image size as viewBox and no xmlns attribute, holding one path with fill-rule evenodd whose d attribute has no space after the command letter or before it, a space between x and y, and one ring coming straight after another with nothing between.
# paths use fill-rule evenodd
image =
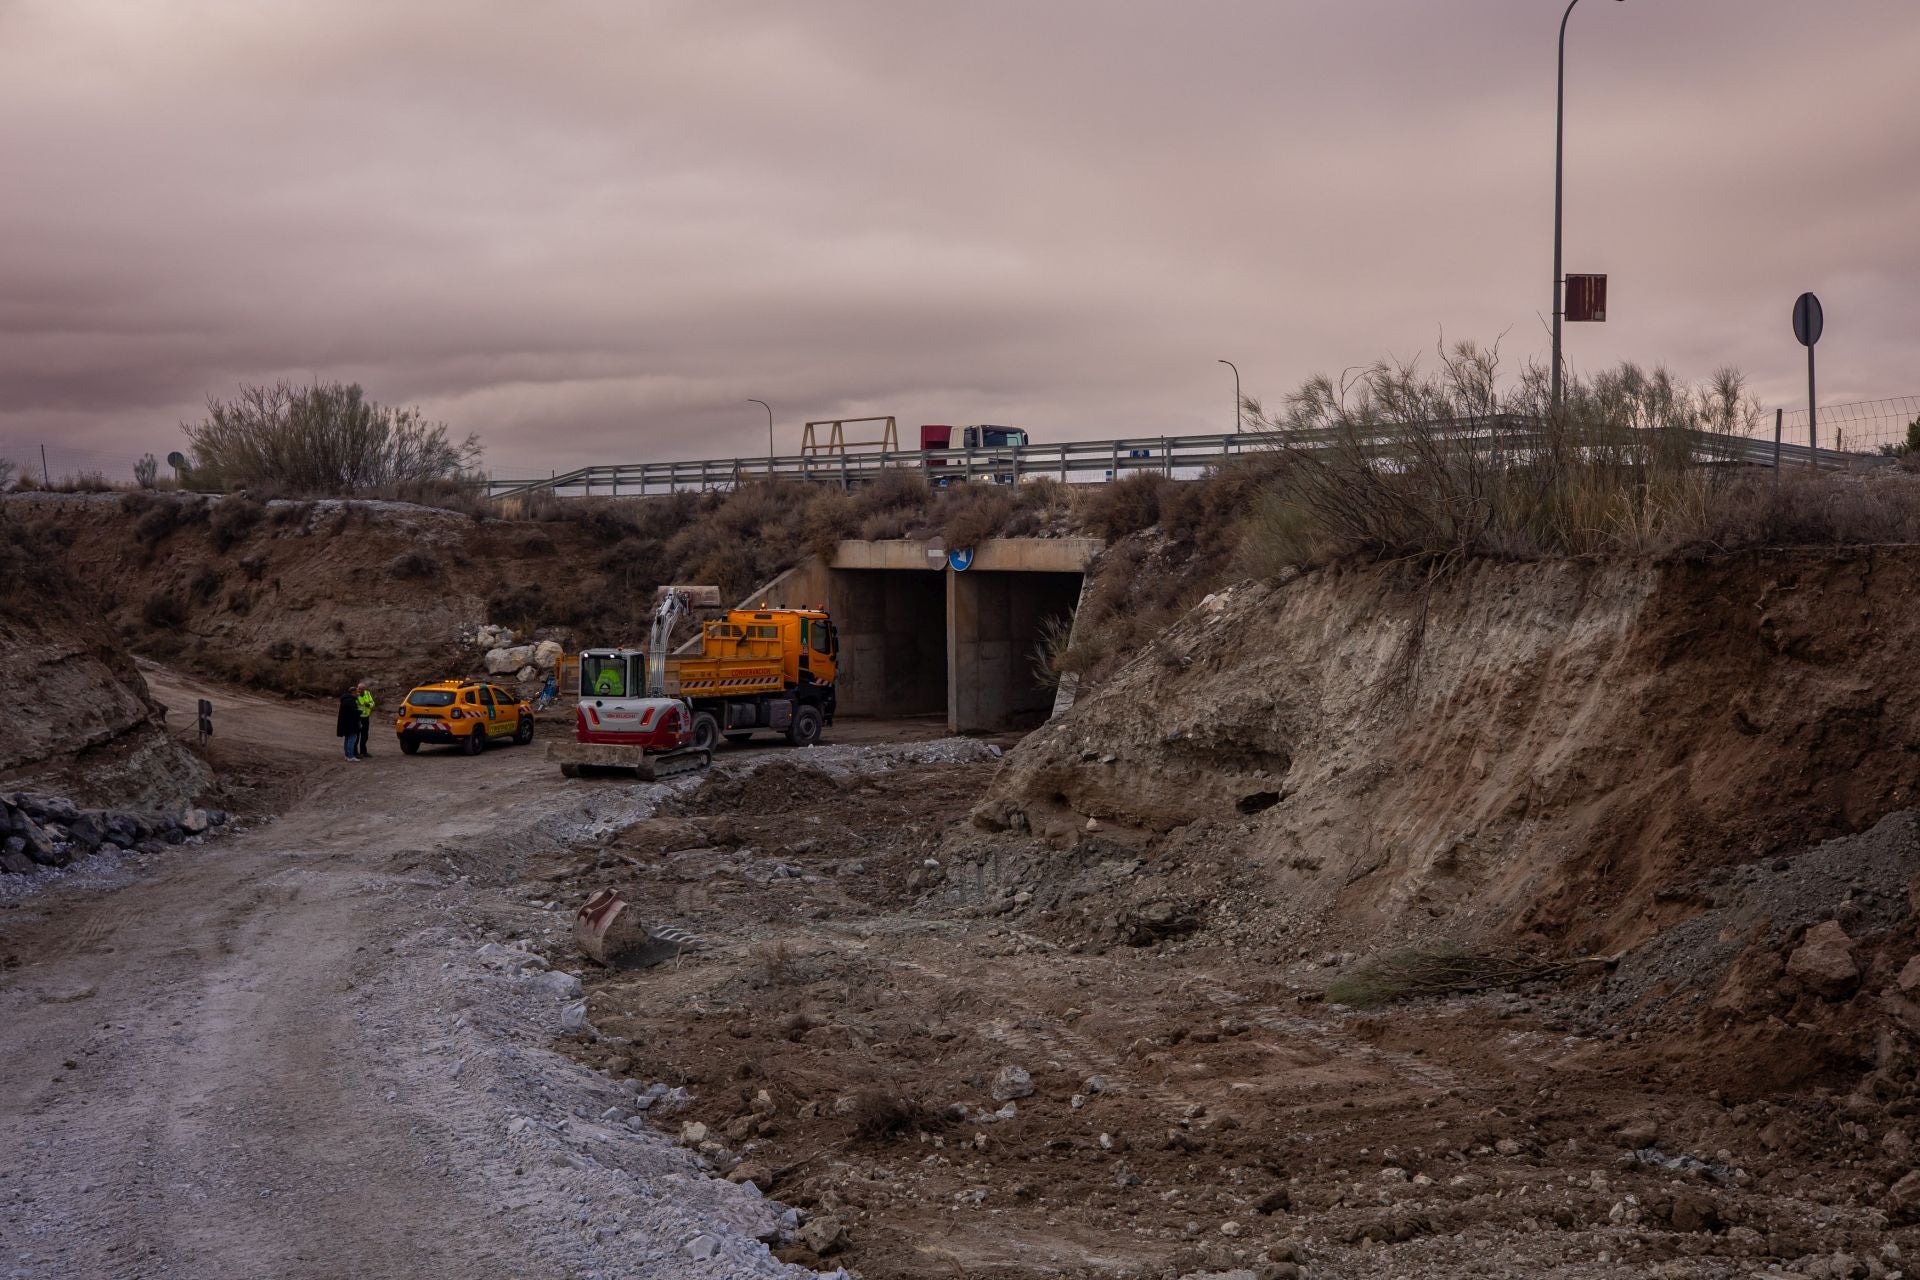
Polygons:
<instances>
[{"instance_id":1,"label":"churned brown earth between the pale gravel track and right-hand bank","mask_svg":"<svg viewBox=\"0 0 1920 1280\"><path fill-rule=\"evenodd\" d=\"M557 1046L684 1086L660 1128L703 1125L716 1173L847 1228L781 1257L870 1280L1866 1276L1920 1247L1884 1207L1910 1065L1864 1105L1757 1096L1713 1046L1597 1015L1624 981L1603 967L1357 1013L1206 929L1089 931L1018 881L956 906L929 860L993 770L780 760L530 865L532 900L612 885L701 935L588 971L599 1038Z\"/></svg>"}]
</instances>

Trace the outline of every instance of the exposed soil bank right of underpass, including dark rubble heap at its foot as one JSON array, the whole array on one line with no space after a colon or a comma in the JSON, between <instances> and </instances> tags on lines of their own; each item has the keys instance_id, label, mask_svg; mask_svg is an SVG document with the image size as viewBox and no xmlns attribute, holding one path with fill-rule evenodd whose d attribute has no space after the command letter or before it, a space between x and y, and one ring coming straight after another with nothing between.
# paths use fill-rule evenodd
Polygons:
<instances>
[{"instance_id":1,"label":"exposed soil bank right of underpass, including dark rubble heap at its foot","mask_svg":"<svg viewBox=\"0 0 1920 1280\"><path fill-rule=\"evenodd\" d=\"M1916 587L1914 547L1244 583L1008 756L939 892L1283 965L1624 952L1607 1017L1868 1065L1876 998L1920 1031ZM1789 958L1826 921L1822 988Z\"/></svg>"}]
</instances>

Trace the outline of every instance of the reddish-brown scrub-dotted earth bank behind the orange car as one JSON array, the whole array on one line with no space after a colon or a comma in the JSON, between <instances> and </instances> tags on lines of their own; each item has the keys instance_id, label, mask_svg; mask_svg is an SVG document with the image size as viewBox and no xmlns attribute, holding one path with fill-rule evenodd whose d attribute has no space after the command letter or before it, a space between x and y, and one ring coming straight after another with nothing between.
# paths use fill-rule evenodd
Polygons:
<instances>
[{"instance_id":1,"label":"reddish-brown scrub-dotted earth bank behind the orange car","mask_svg":"<svg viewBox=\"0 0 1920 1280\"><path fill-rule=\"evenodd\" d=\"M407 503L252 503L146 495L12 497L19 518L58 530L63 570L104 631L204 676L278 693L330 695L372 679L397 695L420 679L476 674L486 622L524 637L624 589L578 524L476 522Z\"/></svg>"}]
</instances>

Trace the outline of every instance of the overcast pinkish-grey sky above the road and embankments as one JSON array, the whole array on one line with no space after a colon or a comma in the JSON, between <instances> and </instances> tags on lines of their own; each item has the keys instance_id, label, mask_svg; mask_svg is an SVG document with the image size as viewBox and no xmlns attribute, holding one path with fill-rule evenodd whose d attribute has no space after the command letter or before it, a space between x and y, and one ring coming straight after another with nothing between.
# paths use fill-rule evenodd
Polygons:
<instances>
[{"instance_id":1,"label":"overcast pinkish-grey sky above the road and embankments","mask_svg":"<svg viewBox=\"0 0 1920 1280\"><path fill-rule=\"evenodd\" d=\"M0 455L355 380L495 474L804 418L1227 430L1544 359L1559 0L0 0ZM1920 4L1584 0L1569 359L1920 393Z\"/></svg>"}]
</instances>

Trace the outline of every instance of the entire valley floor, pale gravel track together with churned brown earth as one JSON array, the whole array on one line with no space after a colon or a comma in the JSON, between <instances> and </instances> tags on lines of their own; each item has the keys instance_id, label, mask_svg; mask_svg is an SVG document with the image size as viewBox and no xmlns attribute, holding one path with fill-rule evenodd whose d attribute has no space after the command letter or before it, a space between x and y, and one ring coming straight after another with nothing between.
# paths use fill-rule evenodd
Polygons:
<instances>
[{"instance_id":1,"label":"entire valley floor, pale gravel track together with churned brown earth","mask_svg":"<svg viewBox=\"0 0 1920 1280\"><path fill-rule=\"evenodd\" d=\"M175 725L209 691L148 679ZM1359 1013L1321 1000L1342 958L1183 913L1183 885L1238 892L1225 835L1208 862L1087 833L1077 896L962 867L998 764L931 723L563 785L516 748L348 766L326 708L211 693L228 798L278 818L0 906L8 1276L1880 1276L1920 1249L1887 1194L1912 1063L1757 1088L1751 1046L1647 1013L1672 960ZM584 963L570 910L607 885L689 950ZM660 1086L685 1103L643 1107Z\"/></svg>"}]
</instances>

